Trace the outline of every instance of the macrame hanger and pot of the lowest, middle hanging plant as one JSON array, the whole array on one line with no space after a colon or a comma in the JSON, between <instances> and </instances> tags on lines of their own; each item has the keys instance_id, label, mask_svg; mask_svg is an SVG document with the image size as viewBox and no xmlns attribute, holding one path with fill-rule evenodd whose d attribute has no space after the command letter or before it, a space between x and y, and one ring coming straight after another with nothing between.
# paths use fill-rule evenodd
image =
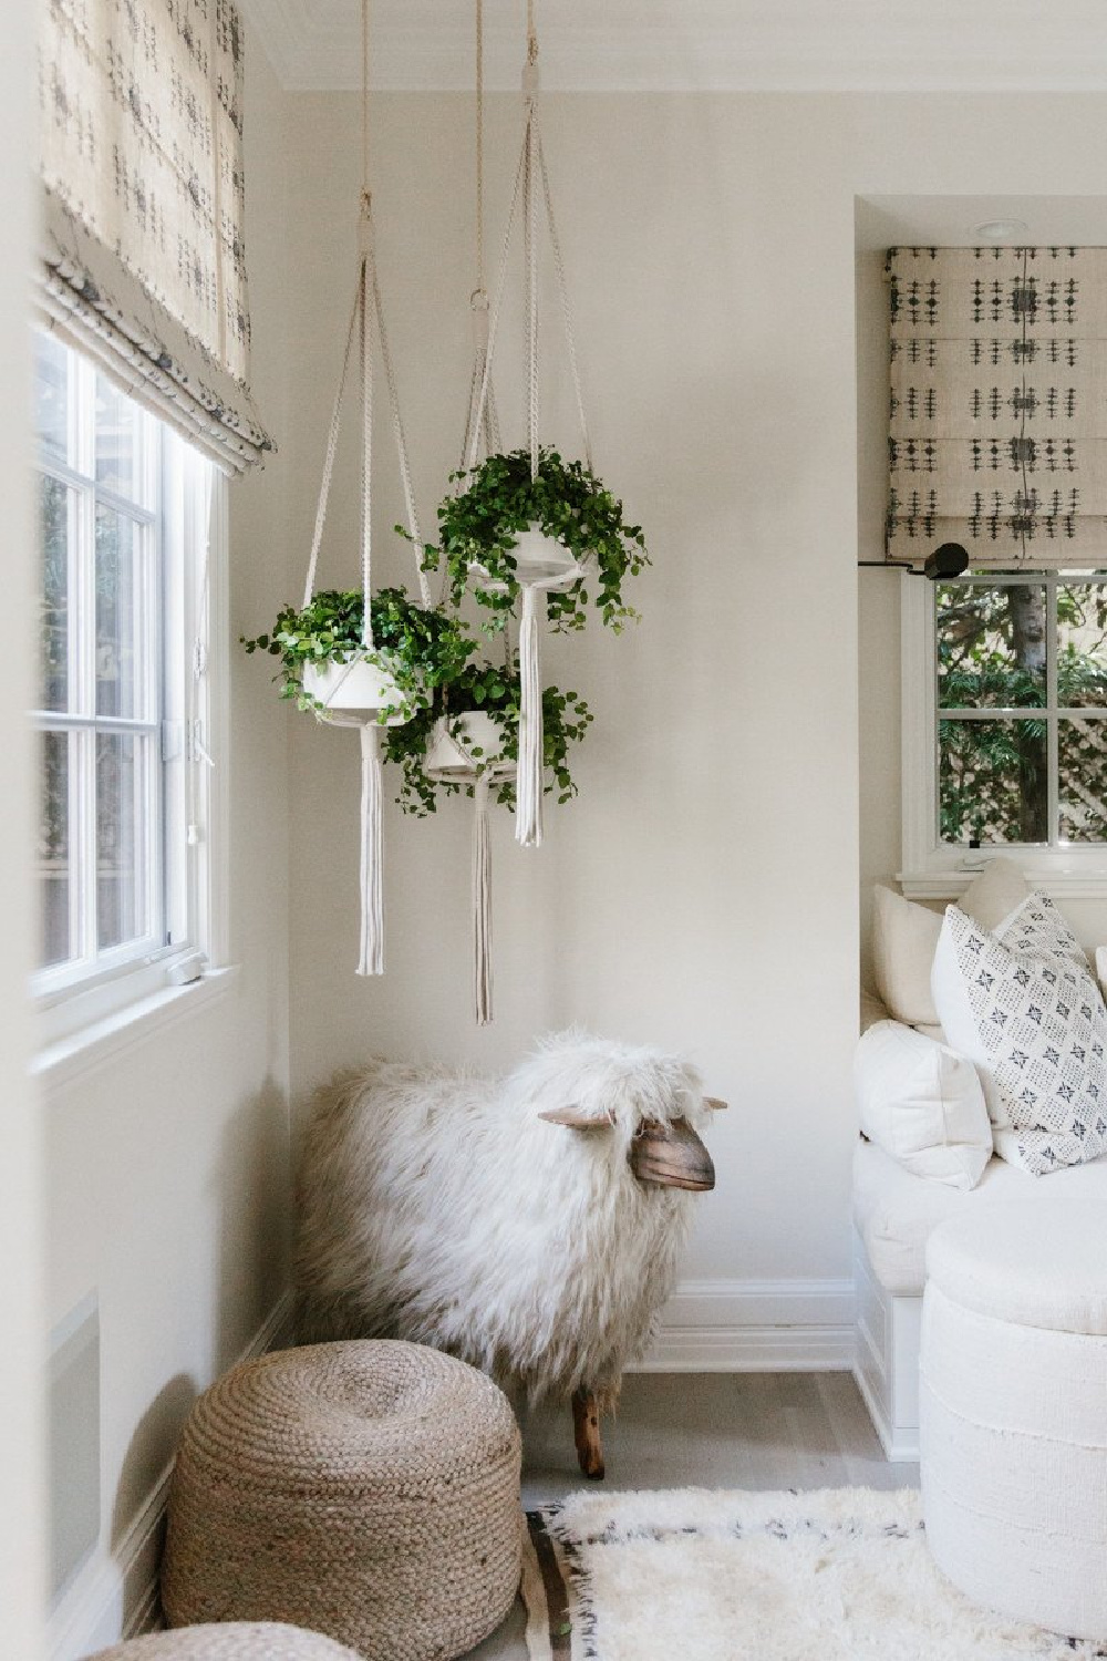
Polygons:
<instances>
[{"instance_id":1,"label":"macrame hanger and pot of the lowest, middle hanging plant","mask_svg":"<svg viewBox=\"0 0 1107 1661\"><path fill-rule=\"evenodd\" d=\"M470 296L473 316L473 374L461 443L461 467L470 455L495 455L501 448L496 399L488 365L488 291L485 289L485 7L476 0L476 287ZM461 480L458 480L461 488ZM503 631L505 664L511 669L511 636ZM478 1026L493 1017L491 997L491 839L488 809L491 791L513 776L511 762L490 762L466 746L458 724L443 716L427 759L427 772L473 791L473 1013Z\"/></svg>"}]
</instances>

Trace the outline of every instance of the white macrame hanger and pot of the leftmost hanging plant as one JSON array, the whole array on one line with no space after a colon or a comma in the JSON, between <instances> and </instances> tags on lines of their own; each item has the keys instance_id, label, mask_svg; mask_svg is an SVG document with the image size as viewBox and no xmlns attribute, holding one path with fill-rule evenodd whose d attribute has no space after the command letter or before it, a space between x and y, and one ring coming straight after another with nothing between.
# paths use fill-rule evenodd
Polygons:
<instances>
[{"instance_id":1,"label":"white macrame hanger and pot of the leftmost hanging plant","mask_svg":"<svg viewBox=\"0 0 1107 1661\"><path fill-rule=\"evenodd\" d=\"M304 585L304 606L307 608L315 590L315 571L319 566L319 548L327 520L327 502L330 497L330 480L339 443L339 427L342 422L342 405L345 385L350 372L354 341L358 342L358 377L362 405L362 485L360 485L360 550L362 550L362 651L350 656L347 663L332 663L327 669L305 669L304 686L312 693L322 709L319 719L334 726L358 728L362 739L362 850L360 850L360 895L362 895L362 938L357 973L383 975L385 972L385 919L383 919L383 875L382 875L382 806L383 781L380 767L380 728L400 726L410 718L405 694L397 686L393 676L375 656L373 620L372 620L372 507L373 507L373 332L380 349L380 359L388 387L388 407L395 430L397 452L400 460L400 477L403 483L403 502L407 510L412 546L415 550L415 568L418 573L420 598L427 610L432 600L423 573L423 541L415 512L415 492L412 487L412 468L408 463L403 422L400 419L400 399L397 379L388 350L388 334L385 331L383 304L380 299L380 279L377 272L373 203L370 191L368 168L368 0L362 0L362 208L358 221L358 269L354 307L342 355L342 372L335 394L330 429L327 432L327 453L324 458L324 477L319 490L319 507L315 508L315 530L312 535L312 551L307 563L307 581Z\"/></svg>"}]
</instances>

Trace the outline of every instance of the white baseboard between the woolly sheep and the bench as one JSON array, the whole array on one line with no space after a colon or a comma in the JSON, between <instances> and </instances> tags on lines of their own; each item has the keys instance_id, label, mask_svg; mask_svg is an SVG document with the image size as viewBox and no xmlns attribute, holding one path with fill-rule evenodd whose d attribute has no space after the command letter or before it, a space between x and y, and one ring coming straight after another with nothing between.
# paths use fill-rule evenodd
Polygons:
<instances>
[{"instance_id":1,"label":"white baseboard between the woolly sheep and the bench","mask_svg":"<svg viewBox=\"0 0 1107 1661\"><path fill-rule=\"evenodd\" d=\"M682 1281L636 1372L850 1372L853 1281Z\"/></svg>"}]
</instances>

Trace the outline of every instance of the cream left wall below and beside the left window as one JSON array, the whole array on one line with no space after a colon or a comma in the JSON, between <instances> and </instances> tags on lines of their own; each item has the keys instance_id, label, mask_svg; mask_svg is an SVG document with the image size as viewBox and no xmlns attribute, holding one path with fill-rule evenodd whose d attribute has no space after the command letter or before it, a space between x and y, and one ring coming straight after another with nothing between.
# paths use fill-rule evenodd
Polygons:
<instances>
[{"instance_id":1,"label":"cream left wall below and beside the left window","mask_svg":"<svg viewBox=\"0 0 1107 1661\"><path fill-rule=\"evenodd\" d=\"M251 42L246 110L254 392L285 430L284 169L279 90ZM284 586L285 465L231 490L231 631ZM234 648L231 960L239 975L96 1070L50 1086L50 1320L95 1292L101 1325L100 1548L55 1619L63 1653L118 1631L141 1585L121 1575L198 1390L251 1344L285 1287L287 716ZM138 1525L138 1535L129 1533ZM149 1563L141 1560L134 1576ZM68 1634L68 1636L66 1636Z\"/></svg>"}]
</instances>

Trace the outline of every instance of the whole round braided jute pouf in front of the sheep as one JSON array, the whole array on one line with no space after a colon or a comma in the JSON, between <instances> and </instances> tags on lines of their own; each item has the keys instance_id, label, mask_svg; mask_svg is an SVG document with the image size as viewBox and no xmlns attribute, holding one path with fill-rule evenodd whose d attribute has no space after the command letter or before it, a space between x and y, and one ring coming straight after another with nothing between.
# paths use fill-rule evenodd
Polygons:
<instances>
[{"instance_id":1,"label":"whole round braided jute pouf in front of the sheep","mask_svg":"<svg viewBox=\"0 0 1107 1661\"><path fill-rule=\"evenodd\" d=\"M372 1661L446 1661L519 1585L519 1432L417 1344L280 1350L193 1407L169 1492L171 1626L290 1621Z\"/></svg>"}]
</instances>

